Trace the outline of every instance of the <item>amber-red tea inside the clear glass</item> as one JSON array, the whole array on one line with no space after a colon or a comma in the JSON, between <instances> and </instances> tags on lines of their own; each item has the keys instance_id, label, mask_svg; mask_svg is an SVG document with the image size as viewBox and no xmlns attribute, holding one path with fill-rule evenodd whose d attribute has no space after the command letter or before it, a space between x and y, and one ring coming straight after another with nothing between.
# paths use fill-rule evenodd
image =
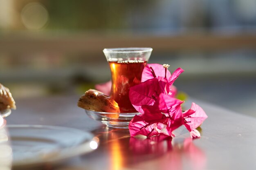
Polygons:
<instances>
[{"instance_id":1,"label":"amber-red tea inside the clear glass","mask_svg":"<svg viewBox=\"0 0 256 170\"><path fill-rule=\"evenodd\" d=\"M141 82L141 74L146 61L126 60L109 62L112 74L112 88L110 97L114 99L121 113L136 113L129 99L129 89Z\"/></svg>"}]
</instances>

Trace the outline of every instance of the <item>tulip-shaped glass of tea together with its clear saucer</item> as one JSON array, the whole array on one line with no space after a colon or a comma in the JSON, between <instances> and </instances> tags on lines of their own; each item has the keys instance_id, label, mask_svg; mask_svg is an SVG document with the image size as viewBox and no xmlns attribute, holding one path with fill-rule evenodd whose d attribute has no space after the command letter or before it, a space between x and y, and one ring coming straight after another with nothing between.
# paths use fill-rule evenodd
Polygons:
<instances>
[{"instance_id":1,"label":"tulip-shaped glass of tea together with its clear saucer","mask_svg":"<svg viewBox=\"0 0 256 170\"><path fill-rule=\"evenodd\" d=\"M118 103L121 113L92 110L85 110L85 113L108 127L128 128L132 118L140 114L130 102L129 89L141 82L142 71L151 51L151 48L104 49L112 75L110 97Z\"/></svg>"}]
</instances>

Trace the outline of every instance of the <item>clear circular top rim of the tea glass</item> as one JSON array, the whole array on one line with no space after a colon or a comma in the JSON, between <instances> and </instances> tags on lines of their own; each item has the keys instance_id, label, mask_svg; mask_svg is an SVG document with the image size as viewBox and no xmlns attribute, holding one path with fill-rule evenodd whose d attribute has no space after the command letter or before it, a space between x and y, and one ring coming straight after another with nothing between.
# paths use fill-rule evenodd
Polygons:
<instances>
[{"instance_id":1,"label":"clear circular top rim of the tea glass","mask_svg":"<svg viewBox=\"0 0 256 170\"><path fill-rule=\"evenodd\" d=\"M152 50L150 47L106 48L103 49L103 53L142 53Z\"/></svg>"}]
</instances>

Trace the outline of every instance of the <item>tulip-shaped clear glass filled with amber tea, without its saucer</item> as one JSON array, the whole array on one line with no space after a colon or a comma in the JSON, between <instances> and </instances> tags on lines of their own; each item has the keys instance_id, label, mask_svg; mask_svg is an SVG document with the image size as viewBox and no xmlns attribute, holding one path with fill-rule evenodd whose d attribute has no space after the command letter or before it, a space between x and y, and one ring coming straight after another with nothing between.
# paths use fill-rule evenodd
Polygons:
<instances>
[{"instance_id":1,"label":"tulip-shaped clear glass filled with amber tea, without its saucer","mask_svg":"<svg viewBox=\"0 0 256 170\"><path fill-rule=\"evenodd\" d=\"M137 112L130 103L129 89L141 82L141 74L151 52L151 48L103 50L112 76L110 97L118 103L121 113Z\"/></svg>"}]
</instances>

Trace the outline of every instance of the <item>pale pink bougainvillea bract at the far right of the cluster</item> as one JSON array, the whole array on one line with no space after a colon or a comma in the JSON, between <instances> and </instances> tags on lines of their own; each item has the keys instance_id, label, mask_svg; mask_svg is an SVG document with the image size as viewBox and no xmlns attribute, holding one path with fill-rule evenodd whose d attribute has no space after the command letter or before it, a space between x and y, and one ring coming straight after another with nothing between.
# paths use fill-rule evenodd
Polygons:
<instances>
[{"instance_id":1,"label":"pale pink bougainvillea bract at the far right of the cluster","mask_svg":"<svg viewBox=\"0 0 256 170\"><path fill-rule=\"evenodd\" d=\"M195 103L192 103L192 106L189 110L186 110L182 117L184 118L184 126L189 130L198 128L203 121L207 118L204 110Z\"/></svg>"}]
</instances>

